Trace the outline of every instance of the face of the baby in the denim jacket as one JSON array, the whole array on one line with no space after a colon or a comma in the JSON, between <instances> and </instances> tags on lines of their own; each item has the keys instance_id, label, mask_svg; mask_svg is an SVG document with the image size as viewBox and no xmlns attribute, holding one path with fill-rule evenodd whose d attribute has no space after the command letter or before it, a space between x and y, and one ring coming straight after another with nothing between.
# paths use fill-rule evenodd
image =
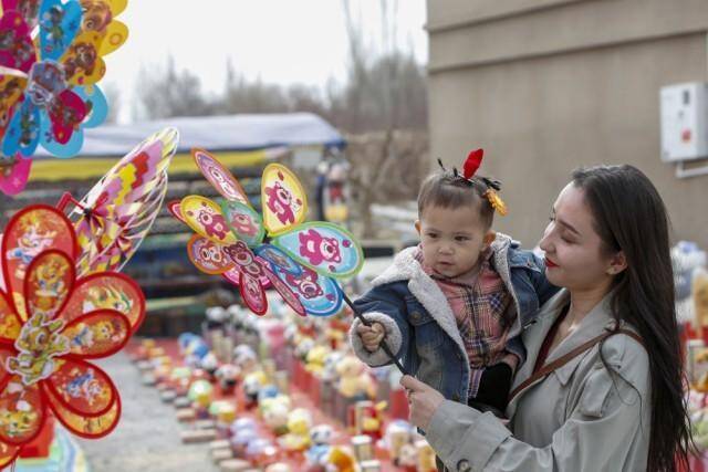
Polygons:
<instances>
[{"instance_id":1,"label":"face of the baby in the denim jacket","mask_svg":"<svg viewBox=\"0 0 708 472\"><path fill-rule=\"evenodd\" d=\"M473 207L428 207L416 222L426 265L446 277L475 269L492 232ZM488 235L489 234L489 235Z\"/></svg>"}]
</instances>

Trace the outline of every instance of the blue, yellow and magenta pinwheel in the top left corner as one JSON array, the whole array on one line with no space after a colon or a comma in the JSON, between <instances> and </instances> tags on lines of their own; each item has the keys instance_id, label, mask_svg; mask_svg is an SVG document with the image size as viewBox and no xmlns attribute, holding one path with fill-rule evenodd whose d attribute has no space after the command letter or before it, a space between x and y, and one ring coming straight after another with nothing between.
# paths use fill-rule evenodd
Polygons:
<instances>
[{"instance_id":1,"label":"blue, yellow and magenta pinwheel in the top left corner","mask_svg":"<svg viewBox=\"0 0 708 472\"><path fill-rule=\"evenodd\" d=\"M83 129L105 120L108 105L95 83L106 72L103 56L127 39L127 27L115 20L126 1L2 0L0 167L15 167L40 144L54 156L74 156ZM3 191L17 193L27 181L24 171L3 174Z\"/></svg>"}]
</instances>

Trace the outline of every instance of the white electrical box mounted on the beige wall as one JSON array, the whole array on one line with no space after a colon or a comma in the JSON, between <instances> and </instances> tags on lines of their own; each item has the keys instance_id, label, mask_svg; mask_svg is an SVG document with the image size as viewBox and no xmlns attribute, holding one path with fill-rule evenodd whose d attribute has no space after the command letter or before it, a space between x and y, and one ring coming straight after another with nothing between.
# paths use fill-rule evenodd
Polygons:
<instances>
[{"instance_id":1,"label":"white electrical box mounted on the beige wall","mask_svg":"<svg viewBox=\"0 0 708 472\"><path fill-rule=\"evenodd\" d=\"M708 157L708 84L662 87L662 160Z\"/></svg>"}]
</instances>

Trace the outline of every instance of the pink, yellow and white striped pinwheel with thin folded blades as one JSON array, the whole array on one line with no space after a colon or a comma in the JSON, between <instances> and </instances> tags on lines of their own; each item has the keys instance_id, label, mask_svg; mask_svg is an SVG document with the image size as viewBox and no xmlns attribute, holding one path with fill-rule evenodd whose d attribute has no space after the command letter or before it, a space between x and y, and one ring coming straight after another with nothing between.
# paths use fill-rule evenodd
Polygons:
<instances>
[{"instance_id":1,"label":"pink, yellow and white striped pinwheel with thin folded blades","mask_svg":"<svg viewBox=\"0 0 708 472\"><path fill-rule=\"evenodd\" d=\"M119 271L150 229L165 193L167 169L177 149L175 128L155 133L124 156L81 200L65 195L59 203L74 221L81 252L80 275Z\"/></svg>"}]
</instances>

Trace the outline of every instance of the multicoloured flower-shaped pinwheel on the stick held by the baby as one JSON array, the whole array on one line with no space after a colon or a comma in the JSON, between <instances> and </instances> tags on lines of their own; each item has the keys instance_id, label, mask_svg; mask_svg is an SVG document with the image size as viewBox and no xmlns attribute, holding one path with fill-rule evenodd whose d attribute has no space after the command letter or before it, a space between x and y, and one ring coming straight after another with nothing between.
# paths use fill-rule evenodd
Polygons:
<instances>
[{"instance_id":1,"label":"multicoloured flower-shaped pinwheel on the stick held by the baby","mask_svg":"<svg viewBox=\"0 0 708 472\"><path fill-rule=\"evenodd\" d=\"M188 196L169 204L173 214L197 232L188 243L192 263L238 284L248 307L259 315L268 308L267 282L300 315L339 312L343 295L335 279L355 274L363 262L354 237L335 224L303 222L305 191L287 167L270 164L263 170L261 219L238 180L214 156L200 149L192 155L225 198L218 203Z\"/></svg>"}]
</instances>

